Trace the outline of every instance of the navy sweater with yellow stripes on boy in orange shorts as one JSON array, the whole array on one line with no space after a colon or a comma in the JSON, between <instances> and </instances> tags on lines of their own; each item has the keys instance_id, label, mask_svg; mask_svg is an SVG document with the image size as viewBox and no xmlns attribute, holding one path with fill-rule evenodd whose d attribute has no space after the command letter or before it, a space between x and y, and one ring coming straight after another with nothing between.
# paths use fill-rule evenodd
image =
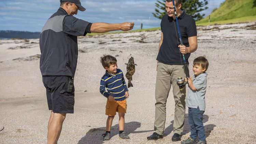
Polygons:
<instances>
[{"instance_id":1,"label":"navy sweater with yellow stripes on boy in orange shorts","mask_svg":"<svg viewBox=\"0 0 256 144\"><path fill-rule=\"evenodd\" d=\"M122 70L117 69L116 75L112 75L106 71L106 73L101 77L100 93L103 96L108 98L109 95L112 95L115 98L115 101L122 101L126 98L126 91L128 91L128 88L126 86Z\"/></svg>"}]
</instances>

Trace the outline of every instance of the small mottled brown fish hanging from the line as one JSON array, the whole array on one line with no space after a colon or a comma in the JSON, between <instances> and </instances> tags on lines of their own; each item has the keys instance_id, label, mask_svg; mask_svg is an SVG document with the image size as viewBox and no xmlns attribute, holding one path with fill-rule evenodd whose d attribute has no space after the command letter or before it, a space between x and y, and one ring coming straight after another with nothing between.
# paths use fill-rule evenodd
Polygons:
<instances>
[{"instance_id":1,"label":"small mottled brown fish hanging from the line","mask_svg":"<svg viewBox=\"0 0 256 144\"><path fill-rule=\"evenodd\" d=\"M133 57L131 57L128 61L128 64L125 64L126 66L126 78L128 79L128 88L129 87L133 87L131 81L132 81L132 75L135 72L135 66L137 66L137 64L134 64L134 59Z\"/></svg>"}]
</instances>

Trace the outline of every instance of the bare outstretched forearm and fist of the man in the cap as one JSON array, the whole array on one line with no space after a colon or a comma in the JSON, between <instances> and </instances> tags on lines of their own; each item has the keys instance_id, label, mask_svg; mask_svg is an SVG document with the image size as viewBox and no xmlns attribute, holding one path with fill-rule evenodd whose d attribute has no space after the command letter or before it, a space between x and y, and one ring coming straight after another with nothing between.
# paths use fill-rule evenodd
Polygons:
<instances>
[{"instance_id":1,"label":"bare outstretched forearm and fist of the man in the cap","mask_svg":"<svg viewBox=\"0 0 256 144\"><path fill-rule=\"evenodd\" d=\"M124 23L104 23L104 22L96 22L91 24L91 33L106 33L111 31L129 31L133 29L133 22L124 22Z\"/></svg>"}]
</instances>

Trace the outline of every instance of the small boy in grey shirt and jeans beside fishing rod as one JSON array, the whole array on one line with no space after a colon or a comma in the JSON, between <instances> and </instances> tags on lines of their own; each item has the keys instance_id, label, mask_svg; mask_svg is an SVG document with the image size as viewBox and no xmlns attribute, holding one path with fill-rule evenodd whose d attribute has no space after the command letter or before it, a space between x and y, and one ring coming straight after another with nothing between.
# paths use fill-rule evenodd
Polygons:
<instances>
[{"instance_id":1,"label":"small boy in grey shirt and jeans beside fishing rod","mask_svg":"<svg viewBox=\"0 0 256 144\"><path fill-rule=\"evenodd\" d=\"M205 92L207 87L208 60L200 56L193 61L193 79L187 77L189 90L186 97L188 107L188 123L190 125L190 137L181 144L206 144L206 136L203 127L203 113L205 111ZM198 141L197 141L198 137Z\"/></svg>"}]
</instances>

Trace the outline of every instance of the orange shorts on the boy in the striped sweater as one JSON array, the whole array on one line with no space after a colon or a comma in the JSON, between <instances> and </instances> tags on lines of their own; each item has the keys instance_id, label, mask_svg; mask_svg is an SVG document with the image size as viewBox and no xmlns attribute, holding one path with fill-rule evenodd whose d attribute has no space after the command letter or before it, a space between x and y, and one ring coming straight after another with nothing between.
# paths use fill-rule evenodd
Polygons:
<instances>
[{"instance_id":1,"label":"orange shorts on the boy in the striped sweater","mask_svg":"<svg viewBox=\"0 0 256 144\"><path fill-rule=\"evenodd\" d=\"M109 116L114 116L116 115L116 112L126 113L126 109L127 109L126 99L123 101L110 101L108 99L106 104L105 114Z\"/></svg>"}]
</instances>

